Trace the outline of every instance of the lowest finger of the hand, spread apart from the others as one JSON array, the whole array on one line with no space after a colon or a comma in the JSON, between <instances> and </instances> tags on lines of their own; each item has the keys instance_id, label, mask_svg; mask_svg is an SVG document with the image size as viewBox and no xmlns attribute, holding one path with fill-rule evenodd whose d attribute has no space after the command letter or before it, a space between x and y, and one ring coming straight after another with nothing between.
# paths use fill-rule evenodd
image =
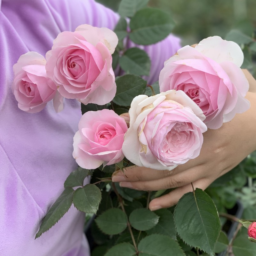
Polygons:
<instances>
[{"instance_id":1,"label":"lowest finger of the hand, spread apart from the others","mask_svg":"<svg viewBox=\"0 0 256 256\"><path fill-rule=\"evenodd\" d=\"M195 189L196 188L201 188L201 189L204 190L211 183L212 183L212 180L208 180L208 179L204 178L204 179L194 181L193 186L194 186ZM180 188L176 188L176 189L172 190L169 194L166 194L164 196L160 196L160 197L157 197L157 198L153 199L149 203L148 207L151 211L156 211L156 210L161 209L161 208L172 207L173 205L178 203L181 196L183 196L184 194L186 194L188 192L192 192L192 191L193 191L192 186L189 183L185 186L182 186Z\"/></svg>"}]
</instances>

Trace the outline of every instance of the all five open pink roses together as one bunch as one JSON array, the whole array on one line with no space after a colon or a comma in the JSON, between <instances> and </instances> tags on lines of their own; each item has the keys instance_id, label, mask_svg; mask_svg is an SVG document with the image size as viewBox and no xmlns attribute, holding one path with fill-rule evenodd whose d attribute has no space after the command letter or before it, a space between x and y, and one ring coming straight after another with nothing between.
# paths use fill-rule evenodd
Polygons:
<instances>
[{"instance_id":1,"label":"all five open pink roses together as one bunch","mask_svg":"<svg viewBox=\"0 0 256 256\"><path fill-rule=\"evenodd\" d=\"M14 65L13 92L19 108L38 112L63 97L104 105L116 93L112 57L117 37L107 28L79 26L54 40L46 60L35 52ZM113 110L86 112L74 136L73 156L83 168L120 162L172 170L199 155L202 133L218 129L250 107L249 84L240 66L243 52L218 36L185 46L164 63L160 94L138 95L129 110L129 128Z\"/></svg>"}]
</instances>

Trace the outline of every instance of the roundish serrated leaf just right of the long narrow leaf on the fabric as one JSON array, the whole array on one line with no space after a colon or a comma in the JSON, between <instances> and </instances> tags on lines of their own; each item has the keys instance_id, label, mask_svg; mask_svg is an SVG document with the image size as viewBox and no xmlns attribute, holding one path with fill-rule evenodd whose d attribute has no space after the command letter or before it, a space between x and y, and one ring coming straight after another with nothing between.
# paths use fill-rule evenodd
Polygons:
<instances>
[{"instance_id":1,"label":"roundish serrated leaf just right of the long narrow leaf on the fabric","mask_svg":"<svg viewBox=\"0 0 256 256\"><path fill-rule=\"evenodd\" d=\"M93 184L87 184L83 188L77 188L73 196L73 203L77 210L86 213L96 213L100 200L100 189Z\"/></svg>"}]
</instances>

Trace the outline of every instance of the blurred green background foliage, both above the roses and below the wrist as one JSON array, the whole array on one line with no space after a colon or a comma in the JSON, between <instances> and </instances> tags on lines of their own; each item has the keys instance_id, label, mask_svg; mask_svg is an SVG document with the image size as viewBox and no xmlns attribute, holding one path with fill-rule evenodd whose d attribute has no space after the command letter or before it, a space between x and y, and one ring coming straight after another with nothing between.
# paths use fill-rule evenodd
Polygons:
<instances>
[{"instance_id":1,"label":"blurred green background foliage, both above the roses and below the wrist","mask_svg":"<svg viewBox=\"0 0 256 256\"><path fill-rule=\"evenodd\" d=\"M96 1L115 12L121 2ZM256 0L150 0L148 5L170 13L176 23L172 33L181 38L182 46L196 44L208 36L221 36L239 44L244 52L241 68L247 68L256 78ZM215 180L206 192L220 213L224 231L230 228L227 213L236 214L237 218L255 220L256 151ZM235 228L233 225L233 230L229 230L229 240ZM241 255L245 256L243 253Z\"/></svg>"}]
</instances>

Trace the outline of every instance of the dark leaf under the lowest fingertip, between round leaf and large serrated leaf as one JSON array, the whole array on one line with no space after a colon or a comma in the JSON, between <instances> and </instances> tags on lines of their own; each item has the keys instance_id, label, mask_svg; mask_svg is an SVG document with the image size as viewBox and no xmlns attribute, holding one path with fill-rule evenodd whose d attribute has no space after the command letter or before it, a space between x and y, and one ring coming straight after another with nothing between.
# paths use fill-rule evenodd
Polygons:
<instances>
[{"instance_id":1,"label":"dark leaf under the lowest fingertip, between round leaf and large serrated leaf","mask_svg":"<svg viewBox=\"0 0 256 256\"><path fill-rule=\"evenodd\" d=\"M166 236L171 236L173 239L176 239L176 230L173 220L172 212L167 209L161 209L155 212L159 216L158 223L155 227L146 231L148 235L151 234L161 234Z\"/></svg>"}]
</instances>

